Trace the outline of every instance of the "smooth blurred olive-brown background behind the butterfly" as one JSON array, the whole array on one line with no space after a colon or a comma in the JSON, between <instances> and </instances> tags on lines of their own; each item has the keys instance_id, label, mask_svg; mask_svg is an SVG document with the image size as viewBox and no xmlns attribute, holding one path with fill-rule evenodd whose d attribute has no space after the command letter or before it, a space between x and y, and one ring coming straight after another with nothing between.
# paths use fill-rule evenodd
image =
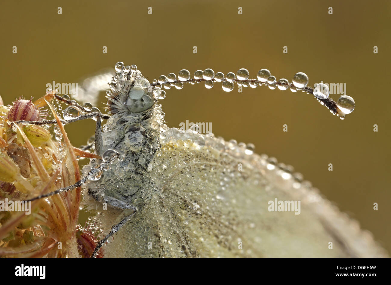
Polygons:
<instances>
[{"instance_id":1,"label":"smooth blurred olive-brown background behind the butterfly","mask_svg":"<svg viewBox=\"0 0 391 285\"><path fill-rule=\"evenodd\" d=\"M267 68L289 81L305 72L310 86L321 80L346 83L356 108L344 121L308 94L264 86L226 93L220 83L211 90L185 85L167 90L161 104L170 127L179 128L186 120L211 122L216 136L253 142L257 153L293 165L391 252L386 88L391 2L98 0L2 1L0 6L0 95L5 104L21 95L38 98L52 81L81 83L117 61L136 64L150 81L181 69L193 74L206 68L224 74L246 68L256 78L258 70ZM330 97L337 101L339 95ZM94 122L74 123L67 130L79 146L93 134Z\"/></svg>"}]
</instances>

